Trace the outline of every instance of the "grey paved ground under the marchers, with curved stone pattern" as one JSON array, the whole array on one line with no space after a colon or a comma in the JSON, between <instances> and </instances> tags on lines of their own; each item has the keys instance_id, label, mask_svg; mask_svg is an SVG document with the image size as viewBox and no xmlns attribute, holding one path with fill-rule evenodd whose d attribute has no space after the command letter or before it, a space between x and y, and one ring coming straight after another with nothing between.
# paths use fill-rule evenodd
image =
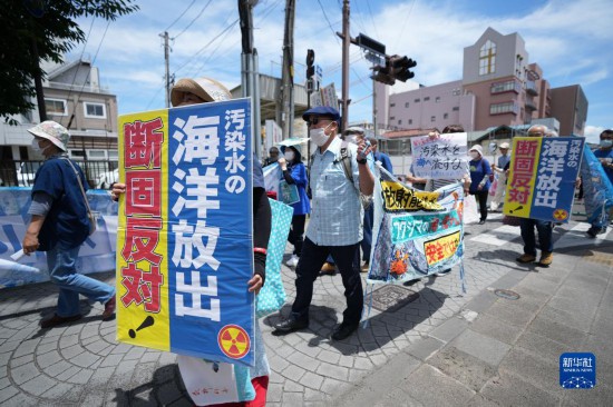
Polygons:
<instances>
[{"instance_id":1,"label":"grey paved ground under the marchers, with curved stone pattern","mask_svg":"<svg viewBox=\"0 0 613 407\"><path fill-rule=\"evenodd\" d=\"M574 240L554 251L553 265L520 266L517 236L503 246L471 241L500 226L492 216L467 227L467 294L457 268L410 287L377 287L368 327L333 341L344 309L337 275L315 281L308 329L273 336L279 316L261 320L273 370L267 405L613 405L613 241L573 237L576 224L556 227L557 241ZM114 281L111 274L97 276ZM293 279L283 267L289 304ZM497 289L519 298L498 297ZM0 405L192 405L176 356L116 343L101 305L84 300L82 320L40 329L56 299L51 284L0 291ZM288 312L289 305L281 314ZM560 387L565 351L596 356L595 388Z\"/></svg>"}]
</instances>

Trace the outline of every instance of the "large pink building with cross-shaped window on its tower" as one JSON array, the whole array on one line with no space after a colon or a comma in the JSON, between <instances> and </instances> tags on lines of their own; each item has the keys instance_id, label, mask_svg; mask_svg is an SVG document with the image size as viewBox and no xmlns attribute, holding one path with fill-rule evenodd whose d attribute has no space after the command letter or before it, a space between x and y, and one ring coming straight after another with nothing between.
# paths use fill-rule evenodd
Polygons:
<instances>
[{"instance_id":1,"label":"large pink building with cross-shaped window on its tower","mask_svg":"<svg viewBox=\"0 0 613 407\"><path fill-rule=\"evenodd\" d=\"M561 135L583 135L587 116L578 85L549 89L541 67L529 62L524 39L492 28L464 49L461 80L388 95L387 86L377 83L379 129L442 129L459 123L478 131L555 118L562 123Z\"/></svg>"}]
</instances>

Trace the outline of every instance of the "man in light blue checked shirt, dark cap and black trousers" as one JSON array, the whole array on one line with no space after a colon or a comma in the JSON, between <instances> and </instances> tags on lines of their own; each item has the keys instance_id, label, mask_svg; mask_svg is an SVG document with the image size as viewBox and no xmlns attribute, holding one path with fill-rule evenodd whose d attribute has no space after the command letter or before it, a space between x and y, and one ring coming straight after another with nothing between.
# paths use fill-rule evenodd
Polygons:
<instances>
[{"instance_id":1,"label":"man in light blue checked shirt, dark cap and black trousers","mask_svg":"<svg viewBox=\"0 0 613 407\"><path fill-rule=\"evenodd\" d=\"M311 165L311 220L296 267L292 312L274 327L278 332L288 334L309 326L313 282L331 254L342 275L347 297L343 321L332 332L332 339L342 340L358 328L362 315L362 281L357 261L363 217L360 193L372 195L374 179L367 165L366 143L344 145L337 137L338 110L317 107L302 118L309 125L311 141L318 146Z\"/></svg>"}]
</instances>

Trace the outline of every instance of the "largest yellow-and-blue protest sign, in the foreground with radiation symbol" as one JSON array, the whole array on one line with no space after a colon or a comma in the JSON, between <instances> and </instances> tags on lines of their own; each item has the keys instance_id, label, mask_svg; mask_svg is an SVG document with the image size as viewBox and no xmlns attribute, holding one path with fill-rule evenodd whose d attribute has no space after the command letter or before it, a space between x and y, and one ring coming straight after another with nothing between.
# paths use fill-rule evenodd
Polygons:
<instances>
[{"instance_id":1,"label":"largest yellow-and-blue protest sign, in the foreground with radiation symbol","mask_svg":"<svg viewBox=\"0 0 613 407\"><path fill-rule=\"evenodd\" d=\"M249 99L119 117L117 339L253 365Z\"/></svg>"}]
</instances>

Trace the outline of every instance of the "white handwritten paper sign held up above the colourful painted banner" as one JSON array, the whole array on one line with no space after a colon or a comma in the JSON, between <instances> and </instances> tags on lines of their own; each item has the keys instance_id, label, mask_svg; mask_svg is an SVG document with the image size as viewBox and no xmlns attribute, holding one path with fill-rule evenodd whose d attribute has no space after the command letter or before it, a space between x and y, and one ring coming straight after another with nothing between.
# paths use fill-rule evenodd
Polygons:
<instances>
[{"instance_id":1,"label":"white handwritten paper sign held up above the colourful painted banner","mask_svg":"<svg viewBox=\"0 0 613 407\"><path fill-rule=\"evenodd\" d=\"M428 179L461 179L468 173L465 132L411 138L412 173Z\"/></svg>"}]
</instances>

